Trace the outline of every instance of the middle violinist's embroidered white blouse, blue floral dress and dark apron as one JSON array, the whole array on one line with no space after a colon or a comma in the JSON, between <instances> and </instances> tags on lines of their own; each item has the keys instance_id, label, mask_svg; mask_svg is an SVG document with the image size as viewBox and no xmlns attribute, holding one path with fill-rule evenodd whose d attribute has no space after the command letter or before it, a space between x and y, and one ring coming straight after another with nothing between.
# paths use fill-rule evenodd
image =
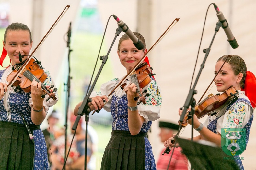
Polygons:
<instances>
[{"instance_id":1,"label":"middle violinist's embroidered white blouse, blue floral dress and dark apron","mask_svg":"<svg viewBox=\"0 0 256 170\"><path fill-rule=\"evenodd\" d=\"M109 95L118 82L119 79L114 79L103 84L100 92L92 96ZM138 105L139 114L145 118L138 135L131 136L129 132L127 95L121 88L115 90L112 98L105 105L104 109L111 112L113 123L112 136L105 149L101 169L156 169L147 132L152 121L160 117L162 97L160 87L154 79L144 89L147 89L150 95L146 98L145 105L142 103Z\"/></svg>"}]
</instances>

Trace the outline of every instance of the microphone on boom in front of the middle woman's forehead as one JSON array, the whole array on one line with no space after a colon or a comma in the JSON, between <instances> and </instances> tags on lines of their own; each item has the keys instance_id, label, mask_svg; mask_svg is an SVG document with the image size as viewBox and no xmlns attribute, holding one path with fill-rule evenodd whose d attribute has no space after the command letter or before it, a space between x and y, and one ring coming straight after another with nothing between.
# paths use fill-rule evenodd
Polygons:
<instances>
[{"instance_id":1,"label":"microphone on boom in front of the middle woman's forehead","mask_svg":"<svg viewBox=\"0 0 256 170\"><path fill-rule=\"evenodd\" d=\"M122 28L122 31L133 41L133 44L138 50L144 48L144 44L134 35L134 33L129 29L129 27L120 20L116 15L113 15L114 19L117 21L117 25Z\"/></svg>"}]
</instances>

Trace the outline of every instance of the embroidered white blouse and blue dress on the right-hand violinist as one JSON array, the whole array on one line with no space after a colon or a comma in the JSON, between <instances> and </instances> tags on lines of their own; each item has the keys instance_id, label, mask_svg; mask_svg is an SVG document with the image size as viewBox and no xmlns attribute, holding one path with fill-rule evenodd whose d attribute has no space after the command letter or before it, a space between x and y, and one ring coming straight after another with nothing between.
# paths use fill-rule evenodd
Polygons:
<instances>
[{"instance_id":1,"label":"embroidered white blouse and blue dress on the right-hand violinist","mask_svg":"<svg viewBox=\"0 0 256 170\"><path fill-rule=\"evenodd\" d=\"M205 120L204 126L207 127L214 133L221 134L221 128L245 128L246 145L249 140L251 123L253 120L253 108L250 104L249 99L245 96L243 91L238 90L238 99L231 104L224 107L219 113L214 116L209 116ZM240 145L240 144L239 144ZM235 156L234 159L238 167L244 170L243 164L239 156Z\"/></svg>"}]
</instances>

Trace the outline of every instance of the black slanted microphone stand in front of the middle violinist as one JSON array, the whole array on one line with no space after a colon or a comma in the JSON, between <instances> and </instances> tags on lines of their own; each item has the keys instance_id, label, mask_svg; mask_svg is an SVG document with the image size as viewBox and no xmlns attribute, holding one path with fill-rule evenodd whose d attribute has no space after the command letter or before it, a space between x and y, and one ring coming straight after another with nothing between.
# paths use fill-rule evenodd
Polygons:
<instances>
[{"instance_id":1,"label":"black slanted microphone stand in front of the middle violinist","mask_svg":"<svg viewBox=\"0 0 256 170\"><path fill-rule=\"evenodd\" d=\"M111 51L111 48L114 45L114 42L115 42L117 36L119 36L119 34L121 32L122 32L122 28L118 27L116 29L115 37L114 37L114 39L112 41L112 44L111 44L111 46L109 48L109 51L108 51L107 55L100 56L100 60L102 60L102 64L101 64L101 66L99 68L98 74L96 75L95 80L94 80L94 82L93 82L93 84L92 84L88 94L85 96L81 106L79 107L79 110L77 112L78 115L76 117L76 121L75 121L74 125L72 126L72 130L76 130L78 122L79 122L81 116L85 115L85 121L86 121L86 129L85 129L85 170L86 170L86 167L87 167L87 134L88 134L88 128L87 127L88 127L88 121L89 121L89 113L91 111L90 107L88 106L88 103L92 101L92 99L89 98L89 96L91 95L92 90L94 89L94 86L95 86L95 84L96 84L96 82L97 82L97 80L99 78L99 75L100 75L100 73L101 73L101 71L103 69L103 66L107 62L108 55L109 55L109 53Z\"/></svg>"}]
</instances>

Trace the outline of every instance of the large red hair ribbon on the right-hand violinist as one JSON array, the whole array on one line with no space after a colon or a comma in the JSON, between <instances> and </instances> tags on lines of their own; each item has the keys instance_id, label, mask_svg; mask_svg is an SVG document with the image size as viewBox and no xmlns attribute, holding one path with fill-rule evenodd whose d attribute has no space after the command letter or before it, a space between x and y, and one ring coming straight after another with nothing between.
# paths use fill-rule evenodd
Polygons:
<instances>
[{"instance_id":1,"label":"large red hair ribbon on the right-hand violinist","mask_svg":"<svg viewBox=\"0 0 256 170\"><path fill-rule=\"evenodd\" d=\"M256 78L250 71L246 72L244 89L242 90L245 92L245 95L249 98L251 105L254 108L256 106Z\"/></svg>"}]
</instances>

